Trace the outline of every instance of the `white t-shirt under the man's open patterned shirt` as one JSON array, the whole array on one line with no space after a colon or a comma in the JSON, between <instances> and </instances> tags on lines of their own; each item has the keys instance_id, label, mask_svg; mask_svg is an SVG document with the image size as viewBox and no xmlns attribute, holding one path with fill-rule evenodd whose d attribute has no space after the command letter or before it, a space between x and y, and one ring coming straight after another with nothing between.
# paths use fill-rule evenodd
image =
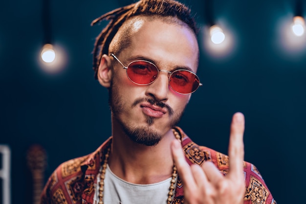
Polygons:
<instances>
[{"instance_id":1,"label":"white t-shirt under the man's open patterned shirt","mask_svg":"<svg viewBox=\"0 0 306 204\"><path fill-rule=\"evenodd\" d=\"M104 179L104 204L166 204L171 179L152 184L134 184L124 181L106 168ZM100 173L94 194L94 204L99 203Z\"/></svg>"}]
</instances>

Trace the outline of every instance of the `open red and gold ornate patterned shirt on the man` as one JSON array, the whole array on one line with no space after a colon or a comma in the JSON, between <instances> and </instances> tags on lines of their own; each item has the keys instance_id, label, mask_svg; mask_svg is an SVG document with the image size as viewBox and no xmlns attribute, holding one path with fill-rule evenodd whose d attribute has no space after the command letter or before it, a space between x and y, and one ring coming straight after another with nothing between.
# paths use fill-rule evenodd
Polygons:
<instances>
[{"instance_id":1,"label":"open red and gold ornate patterned shirt on the man","mask_svg":"<svg viewBox=\"0 0 306 204\"><path fill-rule=\"evenodd\" d=\"M201 165L204 161L211 161L222 174L227 174L228 156L197 145L179 127L175 127L175 130L181 136L182 148L189 164ZM41 204L92 204L97 175L111 141L112 137L109 137L93 153L62 163L44 186ZM253 164L244 161L243 173L246 189L243 204L276 204L261 174ZM179 177L173 204L185 204L183 183Z\"/></svg>"}]
</instances>

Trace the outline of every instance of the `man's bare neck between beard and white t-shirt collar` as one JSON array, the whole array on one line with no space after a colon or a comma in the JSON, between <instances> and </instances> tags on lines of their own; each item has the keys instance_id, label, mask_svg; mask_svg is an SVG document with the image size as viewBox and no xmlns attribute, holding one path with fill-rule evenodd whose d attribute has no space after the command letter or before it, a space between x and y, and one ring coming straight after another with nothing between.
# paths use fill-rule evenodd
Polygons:
<instances>
[{"instance_id":1,"label":"man's bare neck between beard and white t-shirt collar","mask_svg":"<svg viewBox=\"0 0 306 204\"><path fill-rule=\"evenodd\" d=\"M137 184L149 184L171 177L173 159L170 143L176 139L170 129L155 146L131 141L123 131L113 130L109 168L119 178Z\"/></svg>"}]
</instances>

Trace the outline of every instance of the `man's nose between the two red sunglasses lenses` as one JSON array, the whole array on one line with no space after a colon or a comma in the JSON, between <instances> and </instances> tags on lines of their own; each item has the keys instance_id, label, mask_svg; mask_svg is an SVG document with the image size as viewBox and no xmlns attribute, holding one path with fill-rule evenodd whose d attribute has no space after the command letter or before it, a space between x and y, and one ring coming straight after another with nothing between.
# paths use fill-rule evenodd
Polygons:
<instances>
[{"instance_id":1,"label":"man's nose between the two red sunglasses lenses","mask_svg":"<svg viewBox=\"0 0 306 204\"><path fill-rule=\"evenodd\" d=\"M170 72L171 73L171 72ZM169 71L159 70L156 80L148 85L146 95L153 97L158 102L166 102L169 92Z\"/></svg>"}]
</instances>

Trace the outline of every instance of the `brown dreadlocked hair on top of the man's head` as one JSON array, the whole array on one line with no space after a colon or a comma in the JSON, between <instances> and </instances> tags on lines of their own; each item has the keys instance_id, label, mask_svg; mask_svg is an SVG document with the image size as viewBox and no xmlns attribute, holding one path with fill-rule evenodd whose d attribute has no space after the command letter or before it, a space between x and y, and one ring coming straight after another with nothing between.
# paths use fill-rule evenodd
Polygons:
<instances>
[{"instance_id":1,"label":"brown dreadlocked hair on top of the man's head","mask_svg":"<svg viewBox=\"0 0 306 204\"><path fill-rule=\"evenodd\" d=\"M103 20L109 20L108 25L98 35L94 44L93 70L95 79L97 79L102 55L109 53L109 44L121 25L129 18L140 15L176 17L181 22L186 23L195 34L198 32L197 23L191 15L190 9L176 0L139 0L136 3L110 11L91 23L91 25L94 25Z\"/></svg>"}]
</instances>

